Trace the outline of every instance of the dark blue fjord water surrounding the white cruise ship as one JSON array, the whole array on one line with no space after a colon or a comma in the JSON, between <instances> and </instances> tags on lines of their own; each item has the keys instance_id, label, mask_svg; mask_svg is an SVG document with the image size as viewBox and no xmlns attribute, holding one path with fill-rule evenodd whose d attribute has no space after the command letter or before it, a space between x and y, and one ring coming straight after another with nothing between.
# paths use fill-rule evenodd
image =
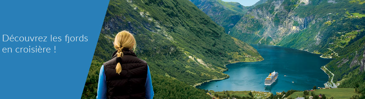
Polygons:
<instances>
[{"instance_id":1,"label":"dark blue fjord water surrounding the white cruise ship","mask_svg":"<svg viewBox=\"0 0 365 99\"><path fill-rule=\"evenodd\" d=\"M266 91L309 90L313 86L324 87L328 75L320 67L332 59L320 58L313 54L291 48L272 45L252 45L264 58L260 62L240 62L227 65L225 74L230 78L203 83L197 88L214 91ZM279 73L271 86L264 85L270 72ZM286 75L286 76L284 76ZM294 83L292 83L294 82Z\"/></svg>"}]
</instances>

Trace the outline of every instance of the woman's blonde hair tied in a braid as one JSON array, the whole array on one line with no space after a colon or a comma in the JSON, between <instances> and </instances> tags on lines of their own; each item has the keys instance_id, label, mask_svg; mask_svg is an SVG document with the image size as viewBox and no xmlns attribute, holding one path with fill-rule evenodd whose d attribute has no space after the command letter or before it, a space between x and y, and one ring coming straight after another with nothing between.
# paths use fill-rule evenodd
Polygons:
<instances>
[{"instance_id":1,"label":"woman's blonde hair tied in a braid","mask_svg":"<svg viewBox=\"0 0 365 99\"><path fill-rule=\"evenodd\" d=\"M123 49L130 49L133 51L135 50L136 40L134 39L134 36L131 33L129 33L126 30L123 30L122 32L116 34L114 40L114 48L118 50L116 53L117 57L123 57ZM120 74L120 72L122 72L122 66L120 65L119 62L117 63L115 70L117 74Z\"/></svg>"}]
</instances>

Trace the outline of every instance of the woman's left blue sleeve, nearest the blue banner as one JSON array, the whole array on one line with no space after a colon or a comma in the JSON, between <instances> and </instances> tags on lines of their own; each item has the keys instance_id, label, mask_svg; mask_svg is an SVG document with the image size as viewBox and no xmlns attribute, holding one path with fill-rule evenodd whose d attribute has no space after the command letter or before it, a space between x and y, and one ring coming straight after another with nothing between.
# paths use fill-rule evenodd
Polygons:
<instances>
[{"instance_id":1,"label":"woman's left blue sleeve, nearest the blue banner","mask_svg":"<svg viewBox=\"0 0 365 99\"><path fill-rule=\"evenodd\" d=\"M100 68L96 99L107 99L107 81L105 80L104 65Z\"/></svg>"}]
</instances>

